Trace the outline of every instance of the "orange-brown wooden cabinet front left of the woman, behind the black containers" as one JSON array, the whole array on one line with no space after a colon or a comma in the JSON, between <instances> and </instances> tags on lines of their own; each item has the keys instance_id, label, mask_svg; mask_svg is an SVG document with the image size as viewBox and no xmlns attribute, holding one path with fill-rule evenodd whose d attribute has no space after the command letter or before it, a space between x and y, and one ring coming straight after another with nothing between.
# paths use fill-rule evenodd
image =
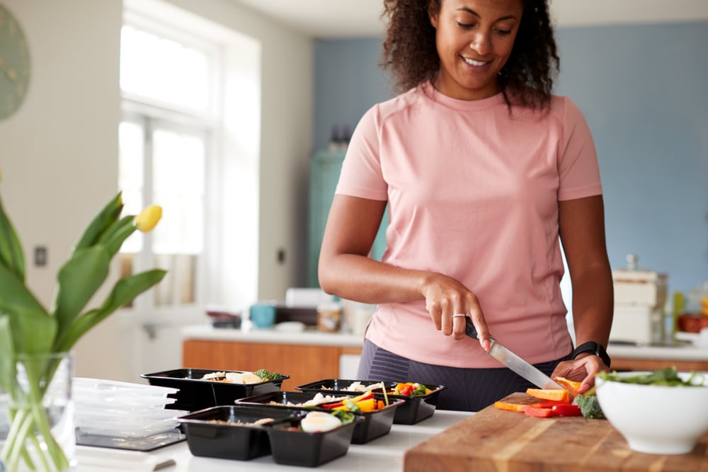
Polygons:
<instances>
[{"instance_id":1,"label":"orange-brown wooden cabinet front left of the woman, behind the black containers","mask_svg":"<svg viewBox=\"0 0 708 472\"><path fill-rule=\"evenodd\" d=\"M360 347L184 340L182 367L214 370L268 369L289 375L282 390L320 379L338 379L339 357L360 355Z\"/></svg>"}]
</instances>

